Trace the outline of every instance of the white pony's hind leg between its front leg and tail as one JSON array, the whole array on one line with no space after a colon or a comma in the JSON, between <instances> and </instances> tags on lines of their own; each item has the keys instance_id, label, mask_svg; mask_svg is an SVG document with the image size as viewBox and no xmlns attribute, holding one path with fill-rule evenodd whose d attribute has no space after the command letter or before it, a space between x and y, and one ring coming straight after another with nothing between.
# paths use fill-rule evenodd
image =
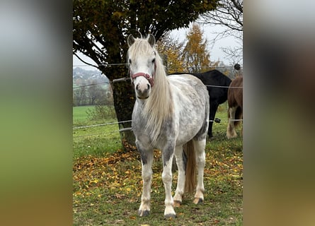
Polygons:
<instances>
[{"instance_id":1,"label":"white pony's hind leg between its front leg and tail","mask_svg":"<svg viewBox=\"0 0 315 226\"><path fill-rule=\"evenodd\" d=\"M185 190L185 156L183 152L183 145L176 146L175 148L175 157L176 157L176 164L178 167L178 180L177 180L177 188L175 191L174 196L174 207L181 206L182 198Z\"/></svg>"}]
</instances>

